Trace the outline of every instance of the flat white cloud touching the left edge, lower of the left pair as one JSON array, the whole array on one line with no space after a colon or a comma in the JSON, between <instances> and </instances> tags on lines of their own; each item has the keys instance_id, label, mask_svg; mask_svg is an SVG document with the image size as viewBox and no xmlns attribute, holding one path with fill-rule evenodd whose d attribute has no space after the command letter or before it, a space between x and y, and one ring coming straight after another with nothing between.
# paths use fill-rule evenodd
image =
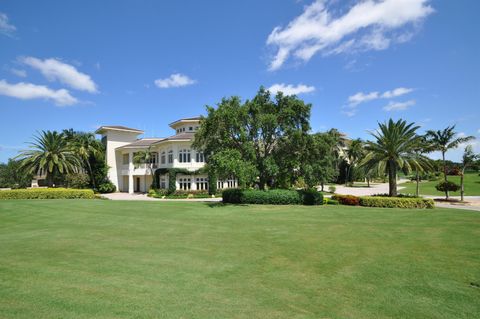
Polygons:
<instances>
[{"instance_id":1,"label":"flat white cloud touching the left edge, lower of the left pair","mask_svg":"<svg viewBox=\"0 0 480 319\"><path fill-rule=\"evenodd\" d=\"M19 82L10 84L5 80L0 80L0 95L6 95L21 100L47 99L55 102L56 105L72 105L78 100L70 95L65 89L52 90L43 85Z\"/></svg>"}]
</instances>

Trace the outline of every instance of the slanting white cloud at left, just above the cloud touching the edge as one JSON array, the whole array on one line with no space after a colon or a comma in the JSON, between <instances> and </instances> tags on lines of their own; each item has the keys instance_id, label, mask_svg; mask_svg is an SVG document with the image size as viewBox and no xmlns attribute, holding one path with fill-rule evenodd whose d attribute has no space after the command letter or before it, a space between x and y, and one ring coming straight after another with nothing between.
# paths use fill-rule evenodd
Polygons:
<instances>
[{"instance_id":1,"label":"slanting white cloud at left, just above the cloud touching the edge","mask_svg":"<svg viewBox=\"0 0 480 319\"><path fill-rule=\"evenodd\" d=\"M73 89L97 93L97 85L88 74L79 72L73 65L63 63L57 59L37 59L22 57L20 62L39 70L49 81L60 81Z\"/></svg>"}]
</instances>

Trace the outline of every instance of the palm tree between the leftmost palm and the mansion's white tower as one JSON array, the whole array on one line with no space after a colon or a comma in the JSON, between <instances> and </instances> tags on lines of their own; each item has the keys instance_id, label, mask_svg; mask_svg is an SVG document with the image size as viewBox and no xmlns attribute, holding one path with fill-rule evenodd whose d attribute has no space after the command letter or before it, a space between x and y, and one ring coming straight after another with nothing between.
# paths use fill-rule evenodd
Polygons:
<instances>
[{"instance_id":1,"label":"palm tree between the leftmost palm and the mansion's white tower","mask_svg":"<svg viewBox=\"0 0 480 319\"><path fill-rule=\"evenodd\" d=\"M74 150L75 154L82 161L84 167L88 170L93 188L95 185L95 177L93 176L90 158L97 157L103 151L103 145L95 139L92 133L75 132L72 129L63 130L63 134Z\"/></svg>"}]
</instances>

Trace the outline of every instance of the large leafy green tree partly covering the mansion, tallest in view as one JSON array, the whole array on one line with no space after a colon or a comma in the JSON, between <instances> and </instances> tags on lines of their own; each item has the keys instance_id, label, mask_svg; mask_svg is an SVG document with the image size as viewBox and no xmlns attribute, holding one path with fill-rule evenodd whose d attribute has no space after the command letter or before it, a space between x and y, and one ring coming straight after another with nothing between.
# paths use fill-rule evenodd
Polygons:
<instances>
[{"instance_id":1,"label":"large leafy green tree partly covering the mansion, tallest in view","mask_svg":"<svg viewBox=\"0 0 480 319\"><path fill-rule=\"evenodd\" d=\"M207 106L207 117L202 119L193 147L209 155L209 165L213 164L211 155L236 150L243 162L255 168L260 189L281 185L292 179L300 163L310 129L310 109L310 104L296 96L278 93L272 99L263 87L245 103L239 97L224 98L216 109ZM225 160L228 158L222 162ZM245 184L254 182L249 176L251 180Z\"/></svg>"}]
</instances>

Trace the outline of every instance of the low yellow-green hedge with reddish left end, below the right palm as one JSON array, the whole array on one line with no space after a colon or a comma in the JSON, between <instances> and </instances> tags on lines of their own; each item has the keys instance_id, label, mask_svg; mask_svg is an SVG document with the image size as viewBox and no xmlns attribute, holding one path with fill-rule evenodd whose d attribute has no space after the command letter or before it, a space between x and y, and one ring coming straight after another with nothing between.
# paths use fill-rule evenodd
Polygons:
<instances>
[{"instance_id":1,"label":"low yellow-green hedge with reddish left end, below the right palm","mask_svg":"<svg viewBox=\"0 0 480 319\"><path fill-rule=\"evenodd\" d=\"M338 200L342 205L365 206L365 207L385 207L385 208L434 208L435 203L432 199L414 198L414 197L382 197L382 196L362 196L338 195L332 196L332 199Z\"/></svg>"}]
</instances>

